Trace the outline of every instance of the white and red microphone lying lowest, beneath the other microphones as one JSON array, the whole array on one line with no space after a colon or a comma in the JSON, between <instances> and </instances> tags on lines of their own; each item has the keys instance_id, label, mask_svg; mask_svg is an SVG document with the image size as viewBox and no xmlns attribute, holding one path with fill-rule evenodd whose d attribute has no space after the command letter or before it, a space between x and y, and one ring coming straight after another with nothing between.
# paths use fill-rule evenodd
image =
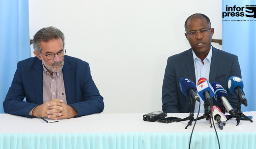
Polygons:
<instances>
[{"instance_id":1,"label":"white and red microphone lying lowest, beneath the other microphones","mask_svg":"<svg viewBox=\"0 0 256 149\"><path fill-rule=\"evenodd\" d=\"M223 129L223 126L225 126L225 122L227 120L226 115L221 112L221 109L219 109L218 106L214 105L212 106L212 116L213 116L213 123L217 123L219 129Z\"/></svg>"}]
</instances>

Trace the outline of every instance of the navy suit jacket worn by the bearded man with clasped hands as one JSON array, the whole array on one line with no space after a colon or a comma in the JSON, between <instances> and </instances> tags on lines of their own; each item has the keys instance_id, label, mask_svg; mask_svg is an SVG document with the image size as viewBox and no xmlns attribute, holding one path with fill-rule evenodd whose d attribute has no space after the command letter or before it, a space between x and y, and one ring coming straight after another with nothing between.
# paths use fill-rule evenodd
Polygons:
<instances>
[{"instance_id":1,"label":"navy suit jacket worn by the bearded man with clasped hands","mask_svg":"<svg viewBox=\"0 0 256 149\"><path fill-rule=\"evenodd\" d=\"M103 97L91 78L87 62L65 55L62 73L67 104L78 112L75 117L103 111ZM40 104L43 104L43 66L41 60L31 57L18 62L3 108L5 113L32 118L29 111Z\"/></svg>"}]
</instances>

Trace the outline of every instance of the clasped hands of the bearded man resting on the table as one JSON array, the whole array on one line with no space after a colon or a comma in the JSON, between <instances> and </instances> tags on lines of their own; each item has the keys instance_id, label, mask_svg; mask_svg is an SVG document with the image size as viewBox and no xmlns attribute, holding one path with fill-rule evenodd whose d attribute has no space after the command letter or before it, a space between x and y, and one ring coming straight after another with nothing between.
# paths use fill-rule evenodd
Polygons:
<instances>
[{"instance_id":1,"label":"clasped hands of the bearded man resting on the table","mask_svg":"<svg viewBox=\"0 0 256 149\"><path fill-rule=\"evenodd\" d=\"M70 105L63 103L62 99L53 99L38 105L32 111L36 117L48 117L54 120L67 119L76 116L77 111Z\"/></svg>"}]
</instances>

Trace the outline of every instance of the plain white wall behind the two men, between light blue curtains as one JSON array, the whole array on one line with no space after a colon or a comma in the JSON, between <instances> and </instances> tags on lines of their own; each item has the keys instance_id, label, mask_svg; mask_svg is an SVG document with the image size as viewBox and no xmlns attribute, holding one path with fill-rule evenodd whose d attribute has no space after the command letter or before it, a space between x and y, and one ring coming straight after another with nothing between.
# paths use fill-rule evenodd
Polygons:
<instances>
[{"instance_id":1,"label":"plain white wall behind the two men, between light blue curtains","mask_svg":"<svg viewBox=\"0 0 256 149\"><path fill-rule=\"evenodd\" d=\"M103 113L149 113L161 111L167 58L190 48L184 22L194 13L207 15L213 39L222 39L222 0L29 0L29 32L33 39L54 26L65 34L67 55L90 64Z\"/></svg>"}]
</instances>

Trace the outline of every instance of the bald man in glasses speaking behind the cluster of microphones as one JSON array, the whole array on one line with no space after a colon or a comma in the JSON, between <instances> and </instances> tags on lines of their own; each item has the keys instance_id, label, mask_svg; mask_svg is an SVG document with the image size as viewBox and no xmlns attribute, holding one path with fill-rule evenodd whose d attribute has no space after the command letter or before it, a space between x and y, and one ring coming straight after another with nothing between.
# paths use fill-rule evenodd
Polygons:
<instances>
[{"instance_id":1,"label":"bald man in glasses speaking behind the cluster of microphones","mask_svg":"<svg viewBox=\"0 0 256 149\"><path fill-rule=\"evenodd\" d=\"M180 79L188 78L197 84L200 78L210 83L218 82L228 93L228 101L237 110L237 97L228 90L228 79L231 76L241 78L241 70L236 55L214 48L211 45L214 28L210 19L204 14L193 14L185 21L185 36L191 46L189 50L170 56L167 60L162 85L162 110L165 113L189 113L190 97L180 90ZM195 112L204 112L201 105L194 100ZM222 104L211 98L212 105Z\"/></svg>"}]
</instances>

